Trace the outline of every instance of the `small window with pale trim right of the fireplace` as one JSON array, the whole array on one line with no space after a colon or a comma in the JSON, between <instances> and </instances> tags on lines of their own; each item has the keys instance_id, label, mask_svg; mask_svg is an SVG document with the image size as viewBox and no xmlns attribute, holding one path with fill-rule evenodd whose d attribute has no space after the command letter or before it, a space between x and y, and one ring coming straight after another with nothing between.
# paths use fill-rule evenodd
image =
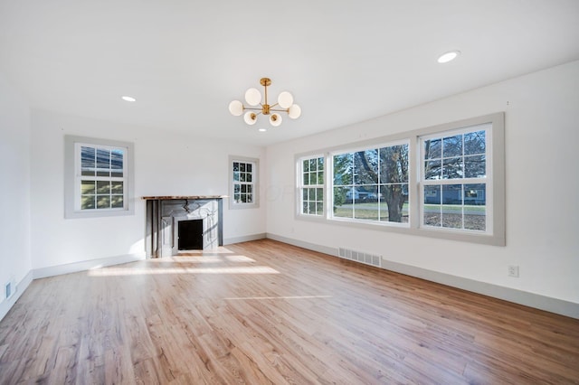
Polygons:
<instances>
[{"instance_id":1,"label":"small window with pale trim right of the fireplace","mask_svg":"<svg viewBox=\"0 0 579 385\"><path fill-rule=\"evenodd\" d=\"M230 208L253 208L258 204L258 159L230 157Z\"/></svg>"}]
</instances>

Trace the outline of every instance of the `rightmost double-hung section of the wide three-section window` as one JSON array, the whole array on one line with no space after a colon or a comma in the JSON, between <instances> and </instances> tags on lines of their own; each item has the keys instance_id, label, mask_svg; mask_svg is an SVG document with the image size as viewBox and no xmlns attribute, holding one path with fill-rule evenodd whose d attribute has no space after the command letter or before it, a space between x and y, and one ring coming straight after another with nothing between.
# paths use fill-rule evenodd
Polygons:
<instances>
[{"instance_id":1,"label":"rightmost double-hung section of the wide three-section window","mask_svg":"<svg viewBox=\"0 0 579 385\"><path fill-rule=\"evenodd\" d=\"M492 230L487 218L491 179L487 164L490 124L420 137L421 225L454 230Z\"/></svg>"}]
</instances>

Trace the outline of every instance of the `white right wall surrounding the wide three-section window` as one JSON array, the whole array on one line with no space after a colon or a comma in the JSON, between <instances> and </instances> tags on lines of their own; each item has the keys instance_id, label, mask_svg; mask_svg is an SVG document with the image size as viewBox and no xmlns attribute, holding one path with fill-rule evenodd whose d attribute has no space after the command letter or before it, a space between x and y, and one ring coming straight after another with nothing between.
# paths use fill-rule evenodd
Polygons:
<instances>
[{"instance_id":1,"label":"white right wall surrounding the wide three-section window","mask_svg":"<svg viewBox=\"0 0 579 385\"><path fill-rule=\"evenodd\" d=\"M428 85L425 85L428 87ZM294 217L294 155L489 113L506 113L507 246L361 230ZM272 238L346 247L579 306L579 61L353 126L268 147ZM508 277L508 265L520 277ZM412 269L411 269L412 270ZM426 275L428 276L428 275ZM442 279L444 280L444 279ZM579 317L579 312L575 315Z\"/></svg>"}]
</instances>

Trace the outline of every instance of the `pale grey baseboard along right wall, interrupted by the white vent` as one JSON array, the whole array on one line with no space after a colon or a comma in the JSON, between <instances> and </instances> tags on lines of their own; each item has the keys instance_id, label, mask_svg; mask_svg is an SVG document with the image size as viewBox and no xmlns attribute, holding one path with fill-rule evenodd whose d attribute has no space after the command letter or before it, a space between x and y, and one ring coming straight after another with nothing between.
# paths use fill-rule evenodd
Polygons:
<instances>
[{"instance_id":1,"label":"pale grey baseboard along right wall, interrupted by the white vent","mask_svg":"<svg viewBox=\"0 0 579 385\"><path fill-rule=\"evenodd\" d=\"M299 239L290 239L271 233L267 233L267 238L278 240L283 243L288 243L289 245L298 246L299 248L318 251L320 253L337 257L337 248L329 248L314 243L304 242ZM460 288L462 290L467 290L472 293L481 294L483 296L491 296L493 298L502 299L518 305L534 307L536 309L545 310L546 312L555 313L557 315L565 315L579 319L579 304L574 302L565 301L550 296L542 296L535 293L529 293L510 287L475 281L469 278L452 276L450 274L432 271L426 268L417 268L410 265L404 265L403 263L388 261L384 258L382 259L382 268L394 271L396 273L404 274L406 276L426 279L427 281L436 282L441 285Z\"/></svg>"}]
</instances>

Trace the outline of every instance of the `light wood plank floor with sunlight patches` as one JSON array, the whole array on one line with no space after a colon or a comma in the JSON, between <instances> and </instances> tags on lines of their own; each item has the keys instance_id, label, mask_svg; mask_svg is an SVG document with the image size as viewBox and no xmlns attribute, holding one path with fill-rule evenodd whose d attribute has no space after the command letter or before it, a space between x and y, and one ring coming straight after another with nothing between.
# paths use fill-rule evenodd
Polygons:
<instances>
[{"instance_id":1,"label":"light wood plank floor with sunlight patches","mask_svg":"<svg viewBox=\"0 0 579 385\"><path fill-rule=\"evenodd\" d=\"M33 281L20 382L579 383L579 320L258 240Z\"/></svg>"}]
</instances>

